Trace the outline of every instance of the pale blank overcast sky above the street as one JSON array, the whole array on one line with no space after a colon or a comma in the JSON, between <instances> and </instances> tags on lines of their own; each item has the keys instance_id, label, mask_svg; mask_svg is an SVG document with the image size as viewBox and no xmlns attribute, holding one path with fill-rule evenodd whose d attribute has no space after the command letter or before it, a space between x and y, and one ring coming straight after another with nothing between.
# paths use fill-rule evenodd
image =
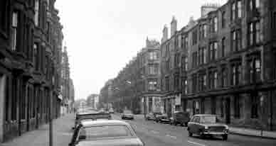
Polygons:
<instances>
[{"instance_id":1,"label":"pale blank overcast sky above the street","mask_svg":"<svg viewBox=\"0 0 276 146\"><path fill-rule=\"evenodd\" d=\"M75 99L99 94L108 79L149 39L161 40L172 16L178 30L200 17L201 5L226 0L57 0L68 47ZM63 43L64 45L65 43Z\"/></svg>"}]
</instances>

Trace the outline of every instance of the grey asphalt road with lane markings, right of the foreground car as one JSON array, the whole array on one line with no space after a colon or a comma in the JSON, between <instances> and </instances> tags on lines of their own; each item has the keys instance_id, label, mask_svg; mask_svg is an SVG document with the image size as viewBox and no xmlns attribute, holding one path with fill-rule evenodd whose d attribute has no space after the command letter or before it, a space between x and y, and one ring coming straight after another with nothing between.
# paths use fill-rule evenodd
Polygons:
<instances>
[{"instance_id":1,"label":"grey asphalt road with lane markings, right of the foreground car","mask_svg":"<svg viewBox=\"0 0 276 146\"><path fill-rule=\"evenodd\" d=\"M120 116L113 115L120 120ZM186 127L155 123L152 120L144 120L143 116L135 116L134 120L125 120L132 125L137 135L146 146L275 146L276 140L262 139L259 137L247 137L241 135L228 135L228 140L221 137L209 137L201 139L193 135L189 137Z\"/></svg>"}]
</instances>

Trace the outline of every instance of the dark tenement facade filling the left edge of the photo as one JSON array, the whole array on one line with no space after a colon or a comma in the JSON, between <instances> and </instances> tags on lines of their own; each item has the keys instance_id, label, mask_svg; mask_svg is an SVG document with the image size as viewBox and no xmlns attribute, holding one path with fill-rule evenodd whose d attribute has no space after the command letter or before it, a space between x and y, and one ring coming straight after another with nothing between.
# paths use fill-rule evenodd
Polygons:
<instances>
[{"instance_id":1,"label":"dark tenement facade filling the left edge of the photo","mask_svg":"<svg viewBox=\"0 0 276 146\"><path fill-rule=\"evenodd\" d=\"M0 141L47 123L50 110L59 116L63 33L54 3L0 1Z\"/></svg>"}]
</instances>

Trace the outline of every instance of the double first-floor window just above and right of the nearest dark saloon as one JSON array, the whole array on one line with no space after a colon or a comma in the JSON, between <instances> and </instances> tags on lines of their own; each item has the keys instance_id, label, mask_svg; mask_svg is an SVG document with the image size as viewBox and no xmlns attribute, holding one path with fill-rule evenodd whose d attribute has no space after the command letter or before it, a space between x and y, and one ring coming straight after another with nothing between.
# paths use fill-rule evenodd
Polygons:
<instances>
[{"instance_id":1,"label":"double first-floor window just above and right of the nearest dark saloon","mask_svg":"<svg viewBox=\"0 0 276 146\"><path fill-rule=\"evenodd\" d=\"M238 85L242 81L241 64L233 64L231 67L231 85Z\"/></svg>"}]
</instances>

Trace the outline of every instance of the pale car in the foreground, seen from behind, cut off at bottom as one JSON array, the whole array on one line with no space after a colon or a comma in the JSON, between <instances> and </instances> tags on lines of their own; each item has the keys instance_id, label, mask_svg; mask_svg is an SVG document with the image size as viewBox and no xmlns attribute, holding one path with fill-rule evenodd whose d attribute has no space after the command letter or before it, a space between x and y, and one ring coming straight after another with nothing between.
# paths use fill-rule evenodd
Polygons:
<instances>
[{"instance_id":1,"label":"pale car in the foreground, seen from behind, cut off at bottom","mask_svg":"<svg viewBox=\"0 0 276 146\"><path fill-rule=\"evenodd\" d=\"M144 146L132 127L122 120L85 121L75 129L69 146Z\"/></svg>"}]
</instances>

